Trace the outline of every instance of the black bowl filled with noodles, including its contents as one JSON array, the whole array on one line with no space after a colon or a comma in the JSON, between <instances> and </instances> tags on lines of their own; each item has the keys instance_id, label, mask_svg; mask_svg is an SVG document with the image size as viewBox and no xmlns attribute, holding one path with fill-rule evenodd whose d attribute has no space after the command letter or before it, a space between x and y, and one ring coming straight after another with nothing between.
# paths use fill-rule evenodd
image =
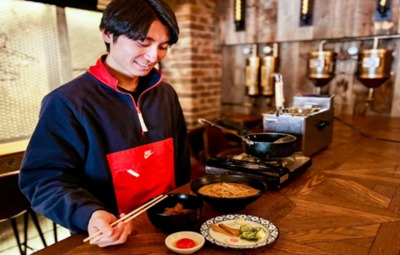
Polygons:
<instances>
[{"instance_id":1,"label":"black bowl filled with noodles, including its contents","mask_svg":"<svg viewBox=\"0 0 400 255\"><path fill-rule=\"evenodd\" d=\"M267 185L258 177L219 174L196 179L190 188L215 210L236 212L262 196Z\"/></svg>"}]
</instances>

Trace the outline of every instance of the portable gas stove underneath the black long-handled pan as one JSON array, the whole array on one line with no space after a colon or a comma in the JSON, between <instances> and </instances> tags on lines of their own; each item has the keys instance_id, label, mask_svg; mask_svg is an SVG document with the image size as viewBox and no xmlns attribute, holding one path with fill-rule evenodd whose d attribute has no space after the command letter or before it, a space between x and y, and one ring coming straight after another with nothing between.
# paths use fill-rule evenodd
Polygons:
<instances>
[{"instance_id":1,"label":"portable gas stove underneath the black long-handled pan","mask_svg":"<svg viewBox=\"0 0 400 255\"><path fill-rule=\"evenodd\" d=\"M300 152L285 158L260 160L246 153L206 161L206 174L246 174L262 177L269 189L277 189L311 166Z\"/></svg>"}]
</instances>

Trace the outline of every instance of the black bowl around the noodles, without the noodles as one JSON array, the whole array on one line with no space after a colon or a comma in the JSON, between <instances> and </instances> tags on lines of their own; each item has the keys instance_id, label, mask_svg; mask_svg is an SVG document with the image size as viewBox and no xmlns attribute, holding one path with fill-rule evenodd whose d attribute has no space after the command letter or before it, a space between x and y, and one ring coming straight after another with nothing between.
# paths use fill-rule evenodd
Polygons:
<instances>
[{"instance_id":1,"label":"black bowl around the noodles, without the noodles","mask_svg":"<svg viewBox=\"0 0 400 255\"><path fill-rule=\"evenodd\" d=\"M238 198L212 197L198 192L198 190L204 185L219 182L241 183L258 189L260 192L252 196ZM192 181L190 188L197 196L210 204L213 209L223 212L236 212L243 210L246 206L262 196L262 194L267 190L267 184L262 179L249 175L216 174L206 175Z\"/></svg>"}]
</instances>

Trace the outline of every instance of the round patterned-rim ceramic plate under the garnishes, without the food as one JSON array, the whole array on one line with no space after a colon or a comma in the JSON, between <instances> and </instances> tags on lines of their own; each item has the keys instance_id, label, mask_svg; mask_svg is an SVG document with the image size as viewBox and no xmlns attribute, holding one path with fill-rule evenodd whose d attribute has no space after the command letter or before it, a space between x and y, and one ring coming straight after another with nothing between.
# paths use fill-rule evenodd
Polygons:
<instances>
[{"instance_id":1,"label":"round patterned-rim ceramic plate under the garnishes, without the food","mask_svg":"<svg viewBox=\"0 0 400 255\"><path fill-rule=\"evenodd\" d=\"M252 242L240 239L240 237L230 237L211 229L211 224L218 223L224 223L229 227L239 228L240 225L237 223L238 219L244 219L245 221L253 225L253 227L264 228L268 235L265 238L258 240L257 242ZM204 236L206 240L210 241L211 243L222 247L235 249L252 249L265 246L273 243L279 236L279 230L272 222L257 216L244 214L228 214L209 219L201 225L200 233Z\"/></svg>"}]
</instances>

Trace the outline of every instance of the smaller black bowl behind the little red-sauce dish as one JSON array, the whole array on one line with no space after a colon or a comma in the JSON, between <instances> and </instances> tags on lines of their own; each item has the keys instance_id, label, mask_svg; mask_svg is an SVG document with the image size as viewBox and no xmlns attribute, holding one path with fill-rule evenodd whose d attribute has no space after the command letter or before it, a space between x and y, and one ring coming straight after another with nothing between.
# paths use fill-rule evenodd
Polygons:
<instances>
[{"instance_id":1,"label":"smaller black bowl behind the little red-sauce dish","mask_svg":"<svg viewBox=\"0 0 400 255\"><path fill-rule=\"evenodd\" d=\"M165 208L173 208L178 203L190 212L182 214L164 214ZM177 231L197 231L203 211L203 201L189 194L168 194L168 197L149 208L147 216L151 223L164 233Z\"/></svg>"}]
</instances>

